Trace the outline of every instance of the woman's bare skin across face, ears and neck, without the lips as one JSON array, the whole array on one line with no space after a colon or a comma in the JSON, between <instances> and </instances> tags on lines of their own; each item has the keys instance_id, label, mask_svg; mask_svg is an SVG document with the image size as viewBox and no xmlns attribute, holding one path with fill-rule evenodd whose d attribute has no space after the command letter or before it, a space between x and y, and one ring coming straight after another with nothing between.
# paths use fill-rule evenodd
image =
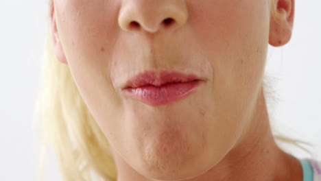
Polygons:
<instances>
[{"instance_id":1,"label":"woman's bare skin across face, ears and neck, without the lips","mask_svg":"<svg viewBox=\"0 0 321 181\"><path fill-rule=\"evenodd\" d=\"M56 57L108 138L119 181L302 180L274 142L263 93L268 44L290 40L294 0L53 3ZM204 81L161 106L121 91L137 73L164 70Z\"/></svg>"}]
</instances>

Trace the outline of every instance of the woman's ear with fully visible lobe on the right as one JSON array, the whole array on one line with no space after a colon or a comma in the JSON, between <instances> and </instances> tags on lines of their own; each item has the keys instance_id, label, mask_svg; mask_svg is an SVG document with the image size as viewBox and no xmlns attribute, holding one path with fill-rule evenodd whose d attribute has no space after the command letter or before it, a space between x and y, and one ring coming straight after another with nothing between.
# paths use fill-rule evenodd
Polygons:
<instances>
[{"instance_id":1,"label":"woman's ear with fully visible lobe on the right","mask_svg":"<svg viewBox=\"0 0 321 181\"><path fill-rule=\"evenodd\" d=\"M269 43L274 47L285 45L292 36L294 0L272 0Z\"/></svg>"}]
</instances>

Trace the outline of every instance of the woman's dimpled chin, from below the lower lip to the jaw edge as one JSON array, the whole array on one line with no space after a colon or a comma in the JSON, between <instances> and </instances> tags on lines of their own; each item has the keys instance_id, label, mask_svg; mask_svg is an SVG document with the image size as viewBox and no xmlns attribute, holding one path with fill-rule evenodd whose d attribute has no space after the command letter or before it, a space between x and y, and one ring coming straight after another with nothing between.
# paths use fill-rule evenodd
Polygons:
<instances>
[{"instance_id":1,"label":"woman's dimpled chin, from below the lower lip to the jaw edge","mask_svg":"<svg viewBox=\"0 0 321 181\"><path fill-rule=\"evenodd\" d=\"M189 98L157 108L128 104L126 140L131 145L128 152L135 154L127 158L146 178L186 180L213 167L216 160L211 145L215 141L211 139L209 119L202 114L207 104L195 108L191 105L203 105L199 101L203 99Z\"/></svg>"}]
</instances>

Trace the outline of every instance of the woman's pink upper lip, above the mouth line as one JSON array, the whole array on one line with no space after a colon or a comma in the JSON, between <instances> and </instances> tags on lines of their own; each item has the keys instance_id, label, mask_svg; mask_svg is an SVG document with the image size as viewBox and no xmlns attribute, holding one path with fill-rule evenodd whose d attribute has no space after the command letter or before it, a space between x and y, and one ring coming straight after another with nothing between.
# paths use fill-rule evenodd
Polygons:
<instances>
[{"instance_id":1,"label":"woman's pink upper lip, above the mouth line","mask_svg":"<svg viewBox=\"0 0 321 181\"><path fill-rule=\"evenodd\" d=\"M134 75L126 82L123 89L139 88L141 86L163 86L165 84L185 83L193 81L202 81L204 79L193 73L180 73L178 71L145 71Z\"/></svg>"}]
</instances>

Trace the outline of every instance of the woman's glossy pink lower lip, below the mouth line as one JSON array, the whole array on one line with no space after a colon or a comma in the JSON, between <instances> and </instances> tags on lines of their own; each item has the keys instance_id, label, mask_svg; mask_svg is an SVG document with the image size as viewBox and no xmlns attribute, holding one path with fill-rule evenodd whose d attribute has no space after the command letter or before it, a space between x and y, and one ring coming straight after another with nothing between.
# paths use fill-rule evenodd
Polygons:
<instances>
[{"instance_id":1,"label":"woman's glossy pink lower lip, below the mouth line","mask_svg":"<svg viewBox=\"0 0 321 181\"><path fill-rule=\"evenodd\" d=\"M187 97L198 86L200 81L165 84L163 86L141 86L124 89L126 95L151 106L169 104Z\"/></svg>"}]
</instances>

